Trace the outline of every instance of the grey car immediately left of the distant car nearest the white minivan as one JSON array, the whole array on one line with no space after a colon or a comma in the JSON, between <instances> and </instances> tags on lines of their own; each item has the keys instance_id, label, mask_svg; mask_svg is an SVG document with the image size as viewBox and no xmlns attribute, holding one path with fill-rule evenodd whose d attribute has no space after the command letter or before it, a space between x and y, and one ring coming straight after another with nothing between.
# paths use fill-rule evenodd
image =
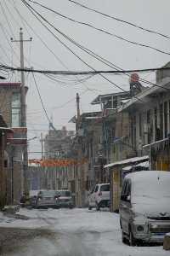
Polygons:
<instances>
[{"instance_id":1,"label":"grey car immediately left of the distant car nearest the white minivan","mask_svg":"<svg viewBox=\"0 0 170 256\"><path fill-rule=\"evenodd\" d=\"M37 195L36 207L57 207L57 191L56 190L41 190Z\"/></svg>"}]
</instances>

